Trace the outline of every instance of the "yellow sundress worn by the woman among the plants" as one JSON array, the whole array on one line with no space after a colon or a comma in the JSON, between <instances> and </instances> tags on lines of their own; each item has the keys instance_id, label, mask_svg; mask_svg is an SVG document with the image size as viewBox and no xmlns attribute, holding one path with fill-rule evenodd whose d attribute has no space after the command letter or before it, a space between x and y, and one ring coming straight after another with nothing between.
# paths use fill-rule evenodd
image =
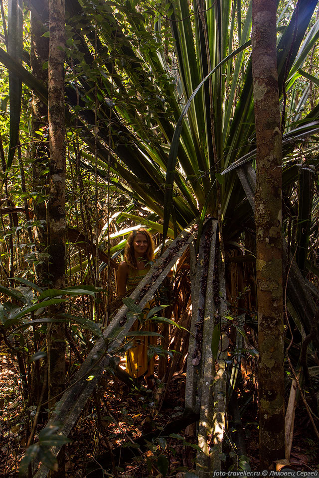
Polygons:
<instances>
[{"instance_id":1,"label":"yellow sundress worn by the woman among the plants","mask_svg":"<svg viewBox=\"0 0 319 478\"><path fill-rule=\"evenodd\" d=\"M126 283L127 290L129 291L137 287L149 270L150 269L133 270L130 267ZM153 301L146 304L144 308L145 320L154 305ZM135 321L131 330L138 330L139 325L139 321ZM155 324L151 321L147 321L143 327L143 330L151 332L155 332L155 329ZM148 359L148 350L150 345L157 345L157 336L137 336L133 338L133 341L137 343L137 345L131 347L131 349L126 352L126 372L133 378L139 378L143 375L154 375L154 357Z\"/></svg>"}]
</instances>

